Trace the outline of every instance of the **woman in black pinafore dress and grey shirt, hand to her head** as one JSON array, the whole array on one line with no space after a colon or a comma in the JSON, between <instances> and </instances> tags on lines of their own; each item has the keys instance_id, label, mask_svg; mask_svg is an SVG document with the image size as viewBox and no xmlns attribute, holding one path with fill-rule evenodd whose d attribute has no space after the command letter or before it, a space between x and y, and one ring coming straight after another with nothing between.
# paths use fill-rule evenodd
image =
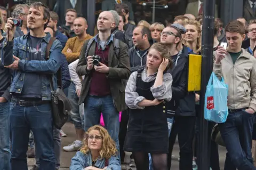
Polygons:
<instances>
[{"instance_id":1,"label":"woman in black pinafore dress and grey shirt, hand to her head","mask_svg":"<svg viewBox=\"0 0 256 170\"><path fill-rule=\"evenodd\" d=\"M125 89L130 118L124 150L133 153L136 168L148 170L148 153L154 170L167 170L169 146L166 102L172 98L172 67L168 48L155 43L149 48L146 68L131 74Z\"/></svg>"}]
</instances>

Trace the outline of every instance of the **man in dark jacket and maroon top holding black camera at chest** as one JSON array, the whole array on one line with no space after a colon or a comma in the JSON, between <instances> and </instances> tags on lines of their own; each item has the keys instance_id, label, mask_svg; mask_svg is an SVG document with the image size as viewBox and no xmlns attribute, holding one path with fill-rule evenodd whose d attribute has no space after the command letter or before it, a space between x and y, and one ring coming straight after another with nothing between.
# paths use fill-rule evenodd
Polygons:
<instances>
[{"instance_id":1,"label":"man in dark jacket and maroon top holding black camera at chest","mask_svg":"<svg viewBox=\"0 0 256 170\"><path fill-rule=\"evenodd\" d=\"M102 112L105 126L119 150L119 111L127 109L123 79L130 76L130 62L127 45L111 35L114 27L113 14L101 12L97 21L99 34L85 42L76 72L85 76L79 98L79 104L84 102L84 130L99 124Z\"/></svg>"}]
</instances>

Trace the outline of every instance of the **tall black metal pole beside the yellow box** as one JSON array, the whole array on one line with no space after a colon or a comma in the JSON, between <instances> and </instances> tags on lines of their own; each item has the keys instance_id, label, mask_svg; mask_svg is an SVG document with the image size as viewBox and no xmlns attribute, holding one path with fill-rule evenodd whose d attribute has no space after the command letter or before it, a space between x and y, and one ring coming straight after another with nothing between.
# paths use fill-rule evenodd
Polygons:
<instances>
[{"instance_id":1,"label":"tall black metal pole beside the yellow box","mask_svg":"<svg viewBox=\"0 0 256 170\"><path fill-rule=\"evenodd\" d=\"M214 37L214 11L215 0L204 1L204 15L202 28L202 74L199 114L199 150L198 170L210 169L210 135L208 122L204 119L204 96L206 85L213 67L213 37Z\"/></svg>"}]
</instances>

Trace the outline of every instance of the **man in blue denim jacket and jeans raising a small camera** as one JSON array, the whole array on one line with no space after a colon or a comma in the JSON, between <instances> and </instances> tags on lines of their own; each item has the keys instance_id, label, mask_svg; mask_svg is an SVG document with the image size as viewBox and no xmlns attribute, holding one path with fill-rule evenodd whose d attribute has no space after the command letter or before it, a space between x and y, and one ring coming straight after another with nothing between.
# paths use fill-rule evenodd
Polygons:
<instances>
[{"instance_id":1,"label":"man in blue denim jacket and jeans raising a small camera","mask_svg":"<svg viewBox=\"0 0 256 170\"><path fill-rule=\"evenodd\" d=\"M28 11L27 35L13 39L14 20L7 20L2 62L13 69L10 87L11 168L27 169L26 152L29 132L32 130L39 156L39 169L55 169L52 135L51 89L49 76L55 74L61 63L61 44L55 40L46 61L46 46L51 35L44 33L50 10L41 2L31 4ZM56 86L54 78L53 86Z\"/></svg>"}]
</instances>

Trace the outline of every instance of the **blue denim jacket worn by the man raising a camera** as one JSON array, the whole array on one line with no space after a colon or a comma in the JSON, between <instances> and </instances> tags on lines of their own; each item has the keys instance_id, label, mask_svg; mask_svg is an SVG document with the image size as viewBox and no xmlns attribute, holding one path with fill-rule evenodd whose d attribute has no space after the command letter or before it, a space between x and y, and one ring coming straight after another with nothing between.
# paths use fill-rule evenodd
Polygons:
<instances>
[{"instance_id":1,"label":"blue denim jacket worn by the man raising a camera","mask_svg":"<svg viewBox=\"0 0 256 170\"><path fill-rule=\"evenodd\" d=\"M51 100L51 88L50 81L47 75L55 74L60 68L61 64L61 43L55 39L50 49L50 59L45 61L46 46L50 41L51 35L46 33L41 43L42 49L42 61L39 60L28 60L29 46L27 39L30 33L14 38L13 41L7 42L7 39L2 43L2 63L4 66L9 66L13 63L13 55L17 56L19 60L19 69L13 72L13 81L10 87L10 93L21 93L23 88L23 80L26 72L36 72L42 75L42 86L41 86L41 97L42 100ZM54 76L54 88L56 87L56 76Z\"/></svg>"}]
</instances>

